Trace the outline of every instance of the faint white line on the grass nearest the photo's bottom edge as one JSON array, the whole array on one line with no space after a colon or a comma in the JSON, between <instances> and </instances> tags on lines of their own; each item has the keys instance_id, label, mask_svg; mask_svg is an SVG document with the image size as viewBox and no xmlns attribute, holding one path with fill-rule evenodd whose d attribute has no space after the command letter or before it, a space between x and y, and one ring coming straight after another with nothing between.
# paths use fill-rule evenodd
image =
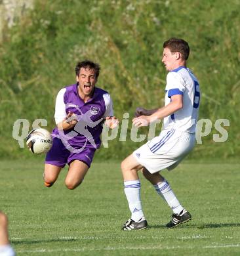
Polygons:
<instances>
[{"instance_id":1,"label":"faint white line on the grass nearest the photo's bottom edge","mask_svg":"<svg viewBox=\"0 0 240 256\"><path fill-rule=\"evenodd\" d=\"M105 247L105 248L75 248L75 249L35 249L35 250L20 250L17 253L53 253L57 251L117 251L117 250L150 250L150 249L218 249L226 247L240 247L240 244L224 244L224 245L206 245L200 246L151 246L151 247Z\"/></svg>"}]
</instances>

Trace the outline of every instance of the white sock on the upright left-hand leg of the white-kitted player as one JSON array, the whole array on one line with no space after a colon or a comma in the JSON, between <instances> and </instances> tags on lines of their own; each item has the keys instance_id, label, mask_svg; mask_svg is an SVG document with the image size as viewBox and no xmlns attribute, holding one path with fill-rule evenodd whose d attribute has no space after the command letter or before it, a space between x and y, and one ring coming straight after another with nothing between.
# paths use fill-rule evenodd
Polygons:
<instances>
[{"instance_id":1,"label":"white sock on the upright left-hand leg of the white-kitted player","mask_svg":"<svg viewBox=\"0 0 240 256\"><path fill-rule=\"evenodd\" d=\"M129 202L129 209L132 213L131 219L133 221L139 221L144 217L142 212L142 203L140 199L141 184L139 180L136 181L124 181L124 192Z\"/></svg>"}]
</instances>

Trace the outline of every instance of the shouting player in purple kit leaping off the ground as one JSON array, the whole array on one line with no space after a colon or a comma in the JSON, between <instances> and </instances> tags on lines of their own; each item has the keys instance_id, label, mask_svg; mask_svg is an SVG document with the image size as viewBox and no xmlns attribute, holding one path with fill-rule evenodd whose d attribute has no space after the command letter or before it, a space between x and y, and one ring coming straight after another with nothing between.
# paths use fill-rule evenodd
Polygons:
<instances>
[{"instance_id":1,"label":"shouting player in purple kit leaping off the ground","mask_svg":"<svg viewBox=\"0 0 240 256\"><path fill-rule=\"evenodd\" d=\"M113 117L109 93L95 84L100 66L90 60L77 63L77 83L61 89L56 96L53 144L45 160L44 181L50 187L68 163L65 179L67 188L74 189L83 181L94 153L100 147L102 123L113 128L118 120Z\"/></svg>"}]
</instances>

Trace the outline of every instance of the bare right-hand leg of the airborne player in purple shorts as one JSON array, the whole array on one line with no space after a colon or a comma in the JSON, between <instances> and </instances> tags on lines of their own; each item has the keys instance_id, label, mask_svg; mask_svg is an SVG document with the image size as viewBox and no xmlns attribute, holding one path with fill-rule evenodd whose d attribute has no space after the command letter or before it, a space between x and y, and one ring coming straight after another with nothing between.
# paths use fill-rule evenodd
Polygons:
<instances>
[{"instance_id":1,"label":"bare right-hand leg of the airborne player in purple shorts","mask_svg":"<svg viewBox=\"0 0 240 256\"><path fill-rule=\"evenodd\" d=\"M68 175L65 179L65 184L67 188L74 189L81 184L87 171L89 170L89 165L83 161L73 160L70 163L68 170Z\"/></svg>"}]
</instances>

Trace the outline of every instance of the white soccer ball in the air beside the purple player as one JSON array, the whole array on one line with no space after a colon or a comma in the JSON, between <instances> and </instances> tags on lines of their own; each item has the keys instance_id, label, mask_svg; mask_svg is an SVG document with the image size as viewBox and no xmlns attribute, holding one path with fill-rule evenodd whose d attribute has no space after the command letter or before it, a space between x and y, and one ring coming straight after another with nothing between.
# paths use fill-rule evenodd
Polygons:
<instances>
[{"instance_id":1,"label":"white soccer ball in the air beside the purple player","mask_svg":"<svg viewBox=\"0 0 240 256\"><path fill-rule=\"evenodd\" d=\"M33 129L28 134L26 144L33 154L46 153L52 146L52 136L46 129Z\"/></svg>"}]
</instances>

